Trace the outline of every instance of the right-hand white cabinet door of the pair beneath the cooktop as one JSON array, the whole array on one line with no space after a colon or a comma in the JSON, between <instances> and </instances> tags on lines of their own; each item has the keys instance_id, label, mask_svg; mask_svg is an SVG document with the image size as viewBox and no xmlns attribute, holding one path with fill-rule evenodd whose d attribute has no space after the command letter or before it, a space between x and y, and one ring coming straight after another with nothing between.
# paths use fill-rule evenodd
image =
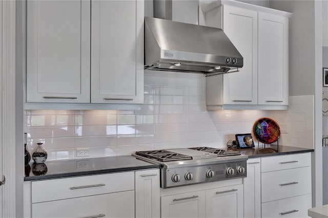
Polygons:
<instances>
[{"instance_id":1,"label":"right-hand white cabinet door of the pair beneath the cooktop","mask_svg":"<svg viewBox=\"0 0 328 218\"><path fill-rule=\"evenodd\" d=\"M243 217L243 185L206 191L206 217Z\"/></svg>"}]
</instances>

